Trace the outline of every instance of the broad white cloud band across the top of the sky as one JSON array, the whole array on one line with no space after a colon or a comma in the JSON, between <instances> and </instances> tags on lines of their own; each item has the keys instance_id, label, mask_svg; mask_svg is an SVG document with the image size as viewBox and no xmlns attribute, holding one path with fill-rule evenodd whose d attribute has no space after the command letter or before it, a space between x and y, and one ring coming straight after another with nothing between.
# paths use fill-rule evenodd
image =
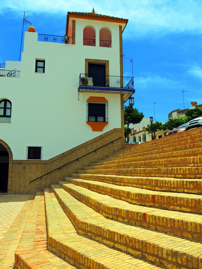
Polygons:
<instances>
[{"instance_id":1,"label":"broad white cloud band across the top of the sky","mask_svg":"<svg viewBox=\"0 0 202 269\"><path fill-rule=\"evenodd\" d=\"M10 11L18 15L23 2L0 0L0 14ZM67 11L91 12L128 18L126 36L165 35L169 33L202 33L201 0L25 0L25 10L34 13L64 15ZM20 13L20 12L19 12ZM8 13L7 13L8 14Z\"/></svg>"}]
</instances>

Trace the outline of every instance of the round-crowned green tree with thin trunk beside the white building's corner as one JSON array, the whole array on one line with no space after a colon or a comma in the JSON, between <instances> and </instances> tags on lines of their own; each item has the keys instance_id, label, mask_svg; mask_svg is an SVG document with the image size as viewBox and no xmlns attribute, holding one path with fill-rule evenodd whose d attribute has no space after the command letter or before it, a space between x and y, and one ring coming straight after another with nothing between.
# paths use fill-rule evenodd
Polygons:
<instances>
[{"instance_id":1,"label":"round-crowned green tree with thin trunk beside the white building's corner","mask_svg":"<svg viewBox=\"0 0 202 269\"><path fill-rule=\"evenodd\" d=\"M133 105L129 105L124 108L124 125L127 125L127 143L129 141L129 124L140 123L143 118L144 114L142 112L138 112L137 108L133 108Z\"/></svg>"}]
</instances>

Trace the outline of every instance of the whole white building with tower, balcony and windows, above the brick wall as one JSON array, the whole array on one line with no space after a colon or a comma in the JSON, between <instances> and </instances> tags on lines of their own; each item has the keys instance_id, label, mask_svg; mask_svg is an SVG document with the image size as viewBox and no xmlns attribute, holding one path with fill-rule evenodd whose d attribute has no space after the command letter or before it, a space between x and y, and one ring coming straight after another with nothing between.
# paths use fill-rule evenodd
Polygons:
<instances>
[{"instance_id":1,"label":"whole white building with tower, balcony and windows, above the brick wall","mask_svg":"<svg viewBox=\"0 0 202 269\"><path fill-rule=\"evenodd\" d=\"M22 61L0 68L0 152L9 163L44 164L113 129L123 137L123 103L135 91L123 77L127 22L93 9L68 12L65 40L25 32Z\"/></svg>"}]
</instances>

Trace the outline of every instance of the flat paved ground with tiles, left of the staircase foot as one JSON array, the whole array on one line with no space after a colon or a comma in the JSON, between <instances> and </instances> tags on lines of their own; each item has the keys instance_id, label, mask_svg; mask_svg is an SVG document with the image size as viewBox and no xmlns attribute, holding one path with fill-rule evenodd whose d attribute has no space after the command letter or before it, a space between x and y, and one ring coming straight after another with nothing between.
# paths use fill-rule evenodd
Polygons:
<instances>
[{"instance_id":1,"label":"flat paved ground with tiles, left of the staircase foot","mask_svg":"<svg viewBox=\"0 0 202 269\"><path fill-rule=\"evenodd\" d=\"M0 268L13 268L33 195L0 195ZM15 222L14 222L15 221Z\"/></svg>"}]
</instances>

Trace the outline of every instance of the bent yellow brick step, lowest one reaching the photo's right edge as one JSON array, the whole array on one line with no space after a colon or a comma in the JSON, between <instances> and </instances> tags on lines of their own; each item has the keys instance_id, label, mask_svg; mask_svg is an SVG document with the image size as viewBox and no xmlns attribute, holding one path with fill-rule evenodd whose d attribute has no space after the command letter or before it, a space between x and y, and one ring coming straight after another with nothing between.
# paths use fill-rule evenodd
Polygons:
<instances>
[{"instance_id":1,"label":"bent yellow brick step, lowest one reaching the photo's right edge","mask_svg":"<svg viewBox=\"0 0 202 269\"><path fill-rule=\"evenodd\" d=\"M166 268L202 268L201 243L106 219L61 186L51 187L78 233Z\"/></svg>"}]
</instances>

